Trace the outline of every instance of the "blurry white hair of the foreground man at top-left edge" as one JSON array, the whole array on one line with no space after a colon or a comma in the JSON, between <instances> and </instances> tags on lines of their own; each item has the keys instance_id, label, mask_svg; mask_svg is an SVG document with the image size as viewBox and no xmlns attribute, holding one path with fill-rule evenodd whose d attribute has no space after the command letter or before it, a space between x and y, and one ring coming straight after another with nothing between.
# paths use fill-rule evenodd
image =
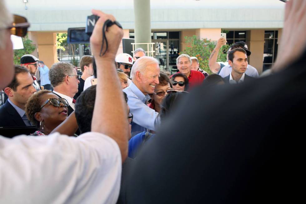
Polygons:
<instances>
[{"instance_id":1,"label":"blurry white hair of the foreground man at top-left edge","mask_svg":"<svg viewBox=\"0 0 306 204\"><path fill-rule=\"evenodd\" d=\"M12 14L7 10L7 7L5 5L4 0L0 0L0 27L5 28L9 25L12 25L11 23L13 22L13 16ZM0 48L4 49L5 46L5 34L6 30L1 29L0 30Z\"/></svg>"}]
</instances>

